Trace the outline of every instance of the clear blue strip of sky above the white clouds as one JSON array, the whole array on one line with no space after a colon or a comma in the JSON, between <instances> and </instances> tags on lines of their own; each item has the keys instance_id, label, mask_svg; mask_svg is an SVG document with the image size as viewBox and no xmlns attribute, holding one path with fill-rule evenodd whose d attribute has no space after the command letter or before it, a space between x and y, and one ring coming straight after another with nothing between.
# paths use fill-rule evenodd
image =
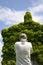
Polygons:
<instances>
[{"instance_id":1,"label":"clear blue strip of sky above the white clouds","mask_svg":"<svg viewBox=\"0 0 43 65\"><path fill-rule=\"evenodd\" d=\"M33 4L35 2L35 4ZM37 3L36 3L37 2ZM0 0L0 5L11 9L24 10L27 7L38 5L39 0Z\"/></svg>"}]
</instances>

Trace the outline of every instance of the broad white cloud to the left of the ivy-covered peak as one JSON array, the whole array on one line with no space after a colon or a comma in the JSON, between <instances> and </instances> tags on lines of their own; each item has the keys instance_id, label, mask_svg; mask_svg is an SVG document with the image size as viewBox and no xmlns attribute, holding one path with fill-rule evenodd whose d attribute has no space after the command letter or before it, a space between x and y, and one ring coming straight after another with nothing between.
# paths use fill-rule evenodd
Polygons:
<instances>
[{"instance_id":1,"label":"broad white cloud to the left of the ivy-covered peak","mask_svg":"<svg viewBox=\"0 0 43 65\"><path fill-rule=\"evenodd\" d=\"M0 7L0 20L5 24L14 24L23 21L25 11L11 10L10 8Z\"/></svg>"}]
</instances>

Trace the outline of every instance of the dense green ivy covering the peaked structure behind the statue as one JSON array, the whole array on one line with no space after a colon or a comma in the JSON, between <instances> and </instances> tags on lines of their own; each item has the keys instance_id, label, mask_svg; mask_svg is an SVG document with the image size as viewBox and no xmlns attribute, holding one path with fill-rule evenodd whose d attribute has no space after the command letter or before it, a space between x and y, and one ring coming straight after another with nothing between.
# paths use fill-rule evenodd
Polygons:
<instances>
[{"instance_id":1,"label":"dense green ivy covering the peaked structure behind the statue","mask_svg":"<svg viewBox=\"0 0 43 65\"><path fill-rule=\"evenodd\" d=\"M43 65L43 25L32 20L30 12L26 12L24 22L15 24L2 30L4 46L2 48L2 65L16 65L16 53L14 44L19 41L21 33L27 34L27 39L33 45L32 60Z\"/></svg>"}]
</instances>

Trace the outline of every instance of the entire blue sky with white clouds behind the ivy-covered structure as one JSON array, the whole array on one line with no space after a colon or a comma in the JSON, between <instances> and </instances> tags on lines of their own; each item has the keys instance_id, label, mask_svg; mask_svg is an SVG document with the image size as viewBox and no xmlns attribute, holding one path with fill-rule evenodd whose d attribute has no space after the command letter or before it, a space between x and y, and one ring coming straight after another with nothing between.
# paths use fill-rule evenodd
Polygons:
<instances>
[{"instance_id":1,"label":"entire blue sky with white clouds behind the ivy-covered structure","mask_svg":"<svg viewBox=\"0 0 43 65\"><path fill-rule=\"evenodd\" d=\"M23 22L26 11L31 12L34 21L43 24L43 0L0 0L0 65L3 46L1 30Z\"/></svg>"}]
</instances>

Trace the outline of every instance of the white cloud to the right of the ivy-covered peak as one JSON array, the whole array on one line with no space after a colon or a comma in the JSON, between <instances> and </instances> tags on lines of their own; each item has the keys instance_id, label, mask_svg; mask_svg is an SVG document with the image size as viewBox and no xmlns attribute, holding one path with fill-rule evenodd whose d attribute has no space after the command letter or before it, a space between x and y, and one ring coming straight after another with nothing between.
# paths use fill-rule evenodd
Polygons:
<instances>
[{"instance_id":1,"label":"white cloud to the right of the ivy-covered peak","mask_svg":"<svg viewBox=\"0 0 43 65\"><path fill-rule=\"evenodd\" d=\"M43 24L43 4L28 9L32 13L33 20L39 21L41 24Z\"/></svg>"}]
</instances>

